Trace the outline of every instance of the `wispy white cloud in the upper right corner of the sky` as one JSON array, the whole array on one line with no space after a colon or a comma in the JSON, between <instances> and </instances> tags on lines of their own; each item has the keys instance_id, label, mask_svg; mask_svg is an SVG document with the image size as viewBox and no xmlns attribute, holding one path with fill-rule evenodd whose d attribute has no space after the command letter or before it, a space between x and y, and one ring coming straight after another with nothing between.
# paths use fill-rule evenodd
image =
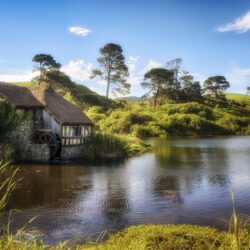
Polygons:
<instances>
[{"instance_id":1,"label":"wispy white cloud in the upper right corner of the sky","mask_svg":"<svg viewBox=\"0 0 250 250\"><path fill-rule=\"evenodd\" d=\"M237 31L239 33L244 33L250 30L250 11L248 11L245 15L237 18L232 23L227 23L225 25L221 25L216 28L219 32L230 32Z\"/></svg>"}]
</instances>

